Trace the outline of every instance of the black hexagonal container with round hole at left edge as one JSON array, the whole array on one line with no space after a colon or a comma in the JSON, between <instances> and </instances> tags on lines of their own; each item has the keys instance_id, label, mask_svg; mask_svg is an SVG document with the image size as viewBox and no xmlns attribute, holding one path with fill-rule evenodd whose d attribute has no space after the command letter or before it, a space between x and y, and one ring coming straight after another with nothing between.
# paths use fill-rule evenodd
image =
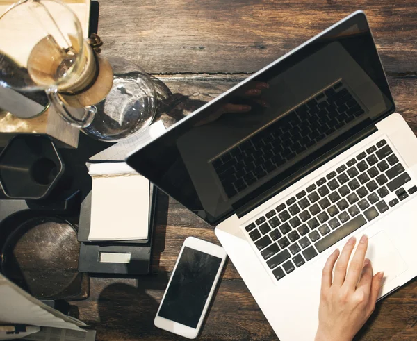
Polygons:
<instances>
[{"instance_id":1,"label":"black hexagonal container with round hole at left edge","mask_svg":"<svg viewBox=\"0 0 417 341\"><path fill-rule=\"evenodd\" d=\"M45 135L17 135L0 154L0 183L12 199L44 199L63 175L64 164Z\"/></svg>"}]
</instances>

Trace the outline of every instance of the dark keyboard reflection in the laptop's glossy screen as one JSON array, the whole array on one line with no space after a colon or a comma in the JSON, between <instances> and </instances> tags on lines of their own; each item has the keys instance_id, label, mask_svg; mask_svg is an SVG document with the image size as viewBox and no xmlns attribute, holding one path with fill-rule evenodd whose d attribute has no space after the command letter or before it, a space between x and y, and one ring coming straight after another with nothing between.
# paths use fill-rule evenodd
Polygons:
<instances>
[{"instance_id":1,"label":"dark keyboard reflection in the laptop's glossy screen","mask_svg":"<svg viewBox=\"0 0 417 341\"><path fill-rule=\"evenodd\" d=\"M213 160L224 192L234 197L363 113L342 82L327 88Z\"/></svg>"}]
</instances>

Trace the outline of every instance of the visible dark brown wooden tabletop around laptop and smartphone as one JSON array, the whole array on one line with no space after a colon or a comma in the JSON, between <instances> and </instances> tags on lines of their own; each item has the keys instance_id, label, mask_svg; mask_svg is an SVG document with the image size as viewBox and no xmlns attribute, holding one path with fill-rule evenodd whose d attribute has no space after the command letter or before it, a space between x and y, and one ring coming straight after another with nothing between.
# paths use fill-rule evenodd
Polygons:
<instances>
[{"instance_id":1,"label":"visible dark brown wooden tabletop around laptop and smartphone","mask_svg":"<svg viewBox=\"0 0 417 341\"><path fill-rule=\"evenodd\" d=\"M397 0L101 0L104 52L136 61L165 82L173 122L334 22L368 15L398 112L417 132L417 3ZM72 302L97 340L179 340L153 319L183 240L218 243L213 227L161 195L152 275L92 278L90 298ZM280 307L277 307L279 309ZM285 323L285 321L283 321ZM302 324L302 322L300 322ZM417 340L417 282L377 304L361 340ZM199 340L275 340L229 262Z\"/></svg>"}]
</instances>

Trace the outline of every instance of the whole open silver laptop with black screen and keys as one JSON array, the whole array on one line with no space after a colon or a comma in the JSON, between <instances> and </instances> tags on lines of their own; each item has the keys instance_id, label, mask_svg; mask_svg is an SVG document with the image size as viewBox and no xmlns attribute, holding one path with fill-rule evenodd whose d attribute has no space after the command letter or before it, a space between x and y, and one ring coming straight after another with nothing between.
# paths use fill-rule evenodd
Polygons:
<instances>
[{"instance_id":1,"label":"whole open silver laptop with black screen and keys","mask_svg":"<svg viewBox=\"0 0 417 341\"><path fill-rule=\"evenodd\" d=\"M416 149L358 11L126 162L216 226L280 340L313 340L322 267L350 236L368 235L379 299L416 276Z\"/></svg>"}]
</instances>

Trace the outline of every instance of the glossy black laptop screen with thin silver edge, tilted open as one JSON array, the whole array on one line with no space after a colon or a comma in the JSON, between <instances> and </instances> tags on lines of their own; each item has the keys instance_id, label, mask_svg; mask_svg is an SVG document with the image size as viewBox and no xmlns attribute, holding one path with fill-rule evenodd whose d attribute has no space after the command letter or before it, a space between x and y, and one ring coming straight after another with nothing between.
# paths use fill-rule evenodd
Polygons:
<instances>
[{"instance_id":1,"label":"glossy black laptop screen with thin silver edge, tilted open","mask_svg":"<svg viewBox=\"0 0 417 341\"><path fill-rule=\"evenodd\" d=\"M356 13L190 114L127 163L218 224L394 110L366 17Z\"/></svg>"}]
</instances>

